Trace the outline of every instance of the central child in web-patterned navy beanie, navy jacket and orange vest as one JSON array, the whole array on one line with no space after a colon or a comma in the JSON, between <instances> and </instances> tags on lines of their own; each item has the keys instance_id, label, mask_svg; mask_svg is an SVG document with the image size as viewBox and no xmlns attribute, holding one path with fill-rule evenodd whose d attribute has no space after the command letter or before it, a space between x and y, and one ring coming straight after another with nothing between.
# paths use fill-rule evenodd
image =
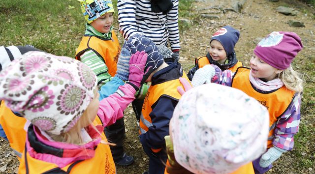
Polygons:
<instances>
[{"instance_id":1,"label":"central child in web-patterned navy beanie, navy jacket and orange vest","mask_svg":"<svg viewBox=\"0 0 315 174\"><path fill-rule=\"evenodd\" d=\"M163 60L157 45L143 35L132 35L125 45L131 54L143 50L148 54L145 69L149 72L147 82L151 82L151 86L142 107L139 138L149 156L149 173L161 174L167 160L164 136L169 134L168 123L181 97L177 92L177 87L182 86L179 78L188 78L179 62L174 58Z\"/></svg>"}]
</instances>

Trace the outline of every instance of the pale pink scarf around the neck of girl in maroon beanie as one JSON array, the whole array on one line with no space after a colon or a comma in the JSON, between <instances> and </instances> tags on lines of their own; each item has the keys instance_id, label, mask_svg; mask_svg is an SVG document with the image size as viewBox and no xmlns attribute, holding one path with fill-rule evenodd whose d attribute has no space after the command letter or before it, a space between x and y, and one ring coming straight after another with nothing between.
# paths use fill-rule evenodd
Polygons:
<instances>
[{"instance_id":1,"label":"pale pink scarf around the neck of girl in maroon beanie","mask_svg":"<svg viewBox=\"0 0 315 174\"><path fill-rule=\"evenodd\" d=\"M268 81L268 82L264 82L258 78L254 78L252 77L252 70L250 73L250 82L252 83L254 87L263 91L271 91L271 90L279 89L280 87L284 86L284 83L279 78Z\"/></svg>"}]
</instances>

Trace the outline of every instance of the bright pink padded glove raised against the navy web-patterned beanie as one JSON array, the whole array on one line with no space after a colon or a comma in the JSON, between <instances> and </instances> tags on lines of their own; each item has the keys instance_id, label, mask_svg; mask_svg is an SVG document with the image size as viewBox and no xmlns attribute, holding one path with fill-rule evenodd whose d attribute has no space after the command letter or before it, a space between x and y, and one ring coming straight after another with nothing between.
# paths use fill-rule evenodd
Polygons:
<instances>
[{"instance_id":1,"label":"bright pink padded glove raised against the navy web-patterned beanie","mask_svg":"<svg viewBox=\"0 0 315 174\"><path fill-rule=\"evenodd\" d=\"M144 67L146 65L147 58L148 54L146 54L144 51L141 51L141 53L137 51L135 54L131 55L129 61L128 84L135 87L136 90L138 90L141 86L140 83L144 75Z\"/></svg>"}]
</instances>

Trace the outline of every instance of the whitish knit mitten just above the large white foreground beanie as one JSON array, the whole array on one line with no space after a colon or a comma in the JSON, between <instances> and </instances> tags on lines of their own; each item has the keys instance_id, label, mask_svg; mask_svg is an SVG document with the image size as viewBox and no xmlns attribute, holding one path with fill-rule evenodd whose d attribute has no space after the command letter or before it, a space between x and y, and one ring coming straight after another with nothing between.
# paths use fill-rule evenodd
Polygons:
<instances>
[{"instance_id":1,"label":"whitish knit mitten just above the large white foreground beanie","mask_svg":"<svg viewBox=\"0 0 315 174\"><path fill-rule=\"evenodd\" d=\"M203 84L211 83L211 79L215 75L216 71L212 65L206 65L198 69L191 81L193 87L198 87Z\"/></svg>"}]
</instances>

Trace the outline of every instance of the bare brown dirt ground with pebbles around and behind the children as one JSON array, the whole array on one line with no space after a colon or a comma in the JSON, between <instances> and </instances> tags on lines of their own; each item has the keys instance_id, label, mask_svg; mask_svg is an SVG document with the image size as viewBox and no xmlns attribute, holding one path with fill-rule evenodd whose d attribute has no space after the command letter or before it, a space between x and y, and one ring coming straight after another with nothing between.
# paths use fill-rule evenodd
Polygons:
<instances>
[{"instance_id":1,"label":"bare brown dirt ground with pebbles around and behind the children","mask_svg":"<svg viewBox=\"0 0 315 174\"><path fill-rule=\"evenodd\" d=\"M237 58L245 65L249 63L257 38L265 37L272 31L294 31L301 37L304 50L298 55L295 61L296 64L303 63L303 60L298 60L299 57L307 57L315 52L315 20L314 17L312 18L315 12L314 7L297 0L280 0L279 2L247 0L239 13L230 10L226 10L223 13L222 10L203 9L217 5L223 7L223 9L230 8L230 0L200 0L191 6L190 19L193 21L193 25L189 29L182 30L180 35L182 47L180 63L186 72L193 66L194 58L207 53L211 35L225 25L230 25L240 30L241 35L235 50ZM293 7L299 11L299 14L297 16L285 16L276 12L275 9L281 5ZM201 13L206 13L207 11L218 12L211 13L211 15L216 15L219 19L209 19L200 16ZM305 15L306 13L308 15ZM289 20L303 22L305 27L289 27L286 24ZM116 28L118 27L116 26ZM119 37L121 39L121 36ZM298 65L295 66L295 69L301 71ZM128 167L117 166L117 173L141 174L148 169L149 161L139 142L136 118L131 106L126 109L124 120L126 123L126 140L124 145L126 152L134 156L135 162ZM274 169L270 173L291 173L286 170L286 166L290 165L290 160L293 160L293 158L290 157L287 164L282 164L279 169ZM13 151L8 143L0 139L0 173L17 173L17 167L18 160L14 156Z\"/></svg>"}]
</instances>

